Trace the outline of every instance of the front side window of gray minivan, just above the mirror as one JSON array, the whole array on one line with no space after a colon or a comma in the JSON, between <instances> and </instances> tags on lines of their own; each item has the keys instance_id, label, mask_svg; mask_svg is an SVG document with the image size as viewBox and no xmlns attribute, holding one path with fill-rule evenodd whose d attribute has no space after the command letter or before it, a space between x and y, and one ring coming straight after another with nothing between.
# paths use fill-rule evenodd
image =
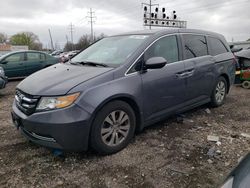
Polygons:
<instances>
[{"instance_id":1,"label":"front side window of gray minivan, just above the mirror","mask_svg":"<svg viewBox=\"0 0 250 188\"><path fill-rule=\"evenodd\" d=\"M145 61L151 57L164 57L167 63L178 61L178 45L176 36L166 36L156 41L145 52Z\"/></svg>"}]
</instances>

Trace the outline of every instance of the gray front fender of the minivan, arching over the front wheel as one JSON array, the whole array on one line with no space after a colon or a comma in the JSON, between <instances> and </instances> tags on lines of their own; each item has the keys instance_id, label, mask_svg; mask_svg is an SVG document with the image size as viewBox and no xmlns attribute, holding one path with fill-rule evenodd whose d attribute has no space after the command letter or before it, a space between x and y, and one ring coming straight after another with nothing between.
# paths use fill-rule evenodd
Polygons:
<instances>
[{"instance_id":1,"label":"gray front fender of the minivan, arching over the front wheel","mask_svg":"<svg viewBox=\"0 0 250 188\"><path fill-rule=\"evenodd\" d=\"M121 77L88 88L82 93L77 104L90 113L93 120L95 114L112 100L123 100L133 108L138 119L137 125L141 130L143 125L143 94L140 74Z\"/></svg>"}]
</instances>

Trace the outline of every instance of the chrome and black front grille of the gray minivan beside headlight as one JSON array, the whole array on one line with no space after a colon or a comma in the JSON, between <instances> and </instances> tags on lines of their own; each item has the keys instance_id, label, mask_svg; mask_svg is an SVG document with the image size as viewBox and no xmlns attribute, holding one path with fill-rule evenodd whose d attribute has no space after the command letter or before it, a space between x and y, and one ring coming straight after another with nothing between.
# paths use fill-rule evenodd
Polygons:
<instances>
[{"instance_id":1,"label":"chrome and black front grille of the gray minivan beside headlight","mask_svg":"<svg viewBox=\"0 0 250 188\"><path fill-rule=\"evenodd\" d=\"M15 101L16 106L26 115L31 115L35 112L39 97L25 94L20 90L16 90Z\"/></svg>"}]
</instances>

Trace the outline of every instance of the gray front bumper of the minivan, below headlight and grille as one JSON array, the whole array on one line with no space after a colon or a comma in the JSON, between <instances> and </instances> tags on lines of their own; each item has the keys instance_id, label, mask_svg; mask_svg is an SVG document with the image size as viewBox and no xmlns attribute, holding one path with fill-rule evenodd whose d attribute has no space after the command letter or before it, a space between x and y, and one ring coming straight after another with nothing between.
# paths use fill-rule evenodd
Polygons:
<instances>
[{"instance_id":1,"label":"gray front bumper of the minivan, below headlight and grille","mask_svg":"<svg viewBox=\"0 0 250 188\"><path fill-rule=\"evenodd\" d=\"M30 116L12 106L15 126L30 141L49 148L86 151L90 132L90 114L77 105Z\"/></svg>"}]
</instances>

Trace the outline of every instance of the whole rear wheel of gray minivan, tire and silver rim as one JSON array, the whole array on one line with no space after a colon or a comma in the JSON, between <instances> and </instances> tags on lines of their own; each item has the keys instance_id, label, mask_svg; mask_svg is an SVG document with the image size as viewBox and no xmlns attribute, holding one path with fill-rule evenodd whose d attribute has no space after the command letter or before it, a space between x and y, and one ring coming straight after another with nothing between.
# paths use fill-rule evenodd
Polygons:
<instances>
[{"instance_id":1,"label":"whole rear wheel of gray minivan, tire and silver rim","mask_svg":"<svg viewBox=\"0 0 250 188\"><path fill-rule=\"evenodd\" d=\"M227 81L224 77L219 77L213 88L211 96L212 107L219 107L224 104L227 95Z\"/></svg>"}]
</instances>

